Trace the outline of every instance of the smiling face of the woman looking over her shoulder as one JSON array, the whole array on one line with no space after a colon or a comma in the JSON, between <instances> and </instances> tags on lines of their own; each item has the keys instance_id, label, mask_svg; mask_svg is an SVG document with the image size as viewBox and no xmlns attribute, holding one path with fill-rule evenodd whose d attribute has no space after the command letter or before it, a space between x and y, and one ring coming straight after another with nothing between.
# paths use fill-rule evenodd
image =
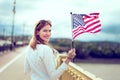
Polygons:
<instances>
[{"instance_id":1,"label":"smiling face of the woman looking over her shoulder","mask_svg":"<svg viewBox=\"0 0 120 80\"><path fill-rule=\"evenodd\" d=\"M51 36L51 26L46 25L44 26L39 32L38 32L39 37L45 42L48 43L50 40Z\"/></svg>"}]
</instances>

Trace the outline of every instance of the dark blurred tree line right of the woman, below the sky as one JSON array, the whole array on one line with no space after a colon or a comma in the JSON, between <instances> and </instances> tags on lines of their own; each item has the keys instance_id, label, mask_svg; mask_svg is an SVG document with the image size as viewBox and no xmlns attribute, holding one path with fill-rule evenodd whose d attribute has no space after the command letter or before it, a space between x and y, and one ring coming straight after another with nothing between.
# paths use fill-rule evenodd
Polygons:
<instances>
[{"instance_id":1,"label":"dark blurred tree line right of the woman, below the sky","mask_svg":"<svg viewBox=\"0 0 120 80\"><path fill-rule=\"evenodd\" d=\"M66 52L71 48L70 39L51 39L51 45L59 52ZM120 43L96 41L82 42L74 41L76 49L76 58L87 59L92 58L120 58Z\"/></svg>"}]
</instances>

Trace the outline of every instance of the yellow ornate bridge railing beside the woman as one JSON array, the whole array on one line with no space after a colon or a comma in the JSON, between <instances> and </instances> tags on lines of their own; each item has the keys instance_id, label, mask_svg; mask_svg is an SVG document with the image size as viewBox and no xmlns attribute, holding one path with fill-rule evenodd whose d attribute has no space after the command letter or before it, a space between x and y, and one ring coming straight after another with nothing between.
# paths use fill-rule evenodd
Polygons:
<instances>
[{"instance_id":1,"label":"yellow ornate bridge railing beside the woman","mask_svg":"<svg viewBox=\"0 0 120 80\"><path fill-rule=\"evenodd\" d=\"M61 54L58 58L57 67L65 60L66 55ZM99 77L96 77L94 74L85 71L80 66L77 66L73 62L70 62L68 65L68 70L66 70L63 75L60 77L60 80L103 80Z\"/></svg>"}]
</instances>

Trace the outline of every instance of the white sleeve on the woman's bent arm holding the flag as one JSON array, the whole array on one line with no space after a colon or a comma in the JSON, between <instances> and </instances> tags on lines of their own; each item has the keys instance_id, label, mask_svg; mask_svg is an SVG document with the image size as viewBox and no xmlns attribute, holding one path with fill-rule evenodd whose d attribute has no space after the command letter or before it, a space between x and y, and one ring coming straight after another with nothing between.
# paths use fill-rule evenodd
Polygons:
<instances>
[{"instance_id":1,"label":"white sleeve on the woman's bent arm holding the flag","mask_svg":"<svg viewBox=\"0 0 120 80\"><path fill-rule=\"evenodd\" d=\"M55 56L53 54L52 49L48 46L45 46L43 54L44 54L44 59L43 59L44 65L46 67L50 80L57 80L67 69L67 64L63 62L61 66L58 67L58 69L56 70Z\"/></svg>"}]
</instances>

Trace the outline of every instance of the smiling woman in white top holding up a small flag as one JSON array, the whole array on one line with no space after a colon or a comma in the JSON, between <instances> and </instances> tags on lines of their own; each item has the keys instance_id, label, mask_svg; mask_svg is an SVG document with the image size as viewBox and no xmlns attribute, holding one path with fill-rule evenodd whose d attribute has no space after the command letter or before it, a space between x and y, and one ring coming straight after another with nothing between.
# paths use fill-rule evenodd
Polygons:
<instances>
[{"instance_id":1,"label":"smiling woman in white top holding up a small flag","mask_svg":"<svg viewBox=\"0 0 120 80\"><path fill-rule=\"evenodd\" d=\"M58 80L75 56L75 49L71 49L66 60L56 69L54 51L48 46L51 26L48 20L40 20L35 26L25 57L25 74L31 73L31 80Z\"/></svg>"}]
</instances>

